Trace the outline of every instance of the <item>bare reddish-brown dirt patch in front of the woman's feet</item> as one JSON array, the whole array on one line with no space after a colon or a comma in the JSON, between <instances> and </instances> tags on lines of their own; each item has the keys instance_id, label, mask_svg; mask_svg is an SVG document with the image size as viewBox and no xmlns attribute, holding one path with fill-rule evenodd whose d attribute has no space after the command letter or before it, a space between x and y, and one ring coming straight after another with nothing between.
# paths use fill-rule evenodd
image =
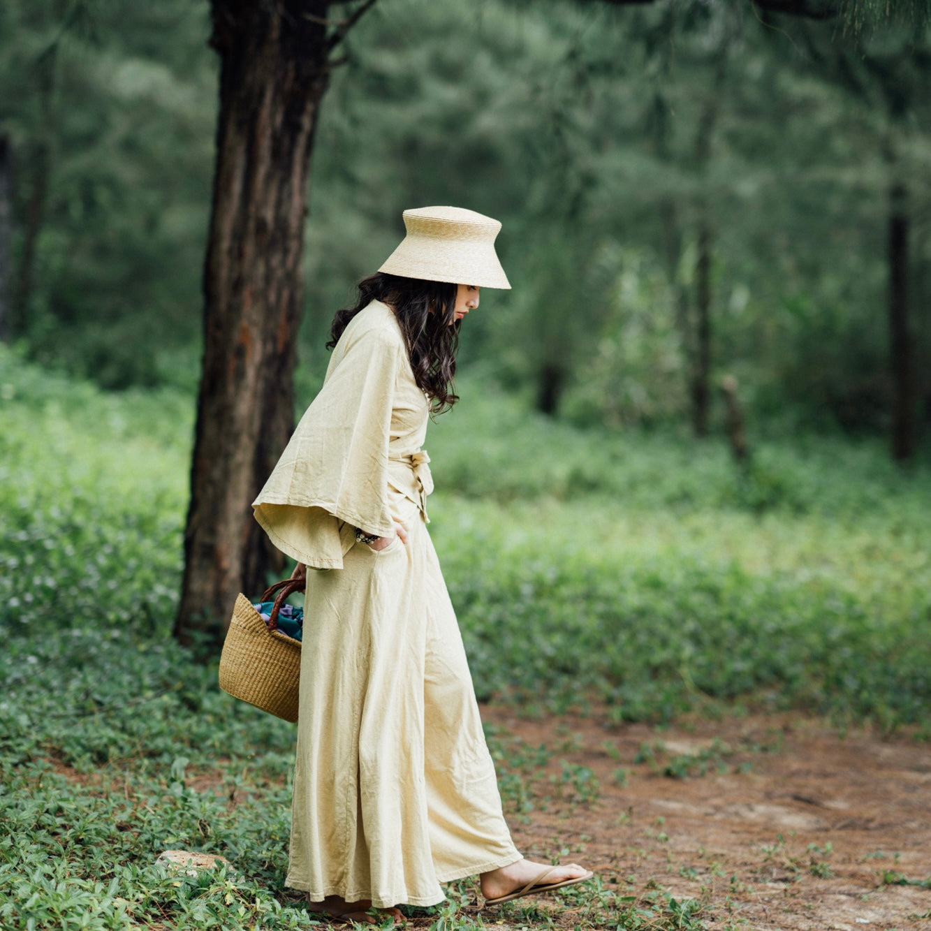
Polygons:
<instances>
[{"instance_id":1,"label":"bare reddish-brown dirt patch in front of the woman's feet","mask_svg":"<svg viewBox=\"0 0 931 931\"><path fill-rule=\"evenodd\" d=\"M504 793L528 856L561 852L621 895L702 900L711 928L931 929L926 743L789 716L662 730L496 705L482 716L499 767L530 787L523 816Z\"/></svg>"}]
</instances>

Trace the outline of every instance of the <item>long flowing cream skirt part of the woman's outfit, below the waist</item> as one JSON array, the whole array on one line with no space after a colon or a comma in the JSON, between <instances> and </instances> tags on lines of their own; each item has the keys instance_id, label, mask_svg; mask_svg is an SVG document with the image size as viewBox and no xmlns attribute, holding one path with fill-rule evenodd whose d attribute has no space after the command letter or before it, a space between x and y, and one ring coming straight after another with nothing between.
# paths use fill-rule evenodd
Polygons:
<instances>
[{"instance_id":1,"label":"long flowing cream skirt part of the woman's outfit, below the waist","mask_svg":"<svg viewBox=\"0 0 931 931\"><path fill-rule=\"evenodd\" d=\"M406 545L308 573L286 884L312 901L435 905L520 858L436 551L393 504Z\"/></svg>"}]
</instances>

